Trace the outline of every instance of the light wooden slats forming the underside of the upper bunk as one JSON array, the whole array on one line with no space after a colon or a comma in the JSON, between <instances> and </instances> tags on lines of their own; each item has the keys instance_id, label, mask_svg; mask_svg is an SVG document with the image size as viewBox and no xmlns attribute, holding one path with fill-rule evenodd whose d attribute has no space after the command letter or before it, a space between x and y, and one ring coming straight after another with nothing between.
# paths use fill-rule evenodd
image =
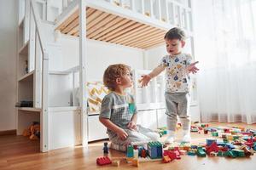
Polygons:
<instances>
[{"instance_id":1,"label":"light wooden slats forming the underside of the upper bunk","mask_svg":"<svg viewBox=\"0 0 256 170\"><path fill-rule=\"evenodd\" d=\"M86 8L86 37L134 48L150 48L164 42L165 30ZM56 28L63 34L79 36L79 11L75 11Z\"/></svg>"}]
</instances>

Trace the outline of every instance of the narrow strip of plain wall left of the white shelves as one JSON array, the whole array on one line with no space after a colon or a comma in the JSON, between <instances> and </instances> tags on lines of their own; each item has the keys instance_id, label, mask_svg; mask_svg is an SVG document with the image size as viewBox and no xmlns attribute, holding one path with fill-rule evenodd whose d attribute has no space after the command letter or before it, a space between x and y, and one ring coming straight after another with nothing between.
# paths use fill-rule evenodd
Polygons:
<instances>
[{"instance_id":1,"label":"narrow strip of plain wall left of the white shelves","mask_svg":"<svg viewBox=\"0 0 256 170\"><path fill-rule=\"evenodd\" d=\"M0 131L16 128L17 3L0 1Z\"/></svg>"}]
</instances>

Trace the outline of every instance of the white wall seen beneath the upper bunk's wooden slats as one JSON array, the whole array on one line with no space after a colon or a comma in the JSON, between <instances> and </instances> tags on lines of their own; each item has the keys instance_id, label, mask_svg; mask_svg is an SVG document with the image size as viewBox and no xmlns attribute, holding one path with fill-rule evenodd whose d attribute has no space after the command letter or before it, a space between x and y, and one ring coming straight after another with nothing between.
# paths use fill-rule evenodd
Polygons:
<instances>
[{"instance_id":1,"label":"white wall seen beneath the upper bunk's wooden slats","mask_svg":"<svg viewBox=\"0 0 256 170\"><path fill-rule=\"evenodd\" d=\"M88 81L102 80L108 65L124 63L132 69L143 69L143 50L108 42L88 40ZM62 36L63 70L79 65L79 38ZM72 57L71 57L72 56Z\"/></svg>"}]
</instances>

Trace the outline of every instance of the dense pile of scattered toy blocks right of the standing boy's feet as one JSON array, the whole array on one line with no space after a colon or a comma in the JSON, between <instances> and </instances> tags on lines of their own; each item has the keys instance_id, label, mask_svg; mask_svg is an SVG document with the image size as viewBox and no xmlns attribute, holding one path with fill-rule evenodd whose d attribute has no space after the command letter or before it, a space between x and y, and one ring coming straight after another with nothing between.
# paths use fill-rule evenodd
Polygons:
<instances>
[{"instance_id":1,"label":"dense pile of scattered toy blocks right of the standing boy's feet","mask_svg":"<svg viewBox=\"0 0 256 170\"><path fill-rule=\"evenodd\" d=\"M215 139L207 139L206 144L179 146L179 150L186 150L189 156L253 156L256 150L256 131L244 127L209 127L207 124L197 123L192 128L211 133ZM191 129L192 129L191 128ZM191 130L196 132L196 130ZM218 140L217 140L218 139ZM221 140L222 141L219 141Z\"/></svg>"}]
</instances>

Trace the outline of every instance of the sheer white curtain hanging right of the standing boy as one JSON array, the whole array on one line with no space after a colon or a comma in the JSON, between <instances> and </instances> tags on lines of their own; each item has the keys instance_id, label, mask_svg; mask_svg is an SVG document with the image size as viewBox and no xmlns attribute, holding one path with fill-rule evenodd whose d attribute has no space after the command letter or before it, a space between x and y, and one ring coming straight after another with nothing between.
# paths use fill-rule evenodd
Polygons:
<instances>
[{"instance_id":1,"label":"sheer white curtain hanging right of the standing boy","mask_svg":"<svg viewBox=\"0 0 256 170\"><path fill-rule=\"evenodd\" d=\"M201 120L255 123L256 0L212 0L211 6L212 51L196 58Z\"/></svg>"}]
</instances>

